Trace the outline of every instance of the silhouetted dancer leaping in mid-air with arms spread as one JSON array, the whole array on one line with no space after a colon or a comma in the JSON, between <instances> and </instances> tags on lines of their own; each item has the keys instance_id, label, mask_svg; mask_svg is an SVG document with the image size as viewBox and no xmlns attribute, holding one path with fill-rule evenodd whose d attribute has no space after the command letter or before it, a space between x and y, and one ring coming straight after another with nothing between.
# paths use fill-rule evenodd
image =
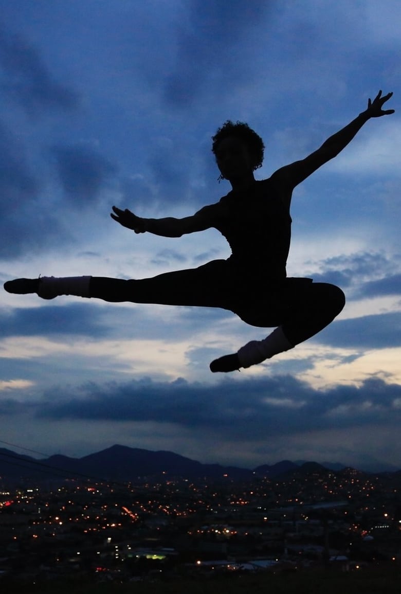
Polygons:
<instances>
[{"instance_id":1,"label":"silhouetted dancer leaping in mid-air with arms spread","mask_svg":"<svg viewBox=\"0 0 401 594\"><path fill-rule=\"evenodd\" d=\"M216 204L204 206L183 219L143 219L113 206L112 219L135 233L181 237L216 228L232 249L228 260L178 270L140 280L104 277L40 277L5 283L10 293L95 297L109 302L130 301L228 309L251 326L276 327L264 340L253 340L238 352L212 361L211 371L250 367L292 349L314 336L340 313L345 296L339 287L288 278L286 260L291 238L292 191L321 165L333 159L370 118L393 113L383 110L392 93L377 97L350 124L331 136L306 159L278 169L256 181L264 144L247 124L227 121L213 137L213 153L221 178L232 190Z\"/></svg>"}]
</instances>

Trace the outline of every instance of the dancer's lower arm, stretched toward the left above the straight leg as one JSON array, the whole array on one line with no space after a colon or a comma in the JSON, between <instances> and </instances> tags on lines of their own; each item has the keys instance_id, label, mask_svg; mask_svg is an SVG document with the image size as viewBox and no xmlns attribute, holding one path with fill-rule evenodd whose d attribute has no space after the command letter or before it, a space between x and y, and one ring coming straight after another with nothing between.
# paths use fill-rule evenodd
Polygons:
<instances>
[{"instance_id":1,"label":"dancer's lower arm, stretched toward the left above the straight leg","mask_svg":"<svg viewBox=\"0 0 401 594\"><path fill-rule=\"evenodd\" d=\"M132 229L135 233L153 233L162 237L181 237L186 233L195 231L204 231L213 226L210 216L210 207L204 206L197 213L183 219L166 217L165 219L142 219L132 213L128 208L121 210L113 206L113 212L110 217L120 223L127 229Z\"/></svg>"}]
</instances>

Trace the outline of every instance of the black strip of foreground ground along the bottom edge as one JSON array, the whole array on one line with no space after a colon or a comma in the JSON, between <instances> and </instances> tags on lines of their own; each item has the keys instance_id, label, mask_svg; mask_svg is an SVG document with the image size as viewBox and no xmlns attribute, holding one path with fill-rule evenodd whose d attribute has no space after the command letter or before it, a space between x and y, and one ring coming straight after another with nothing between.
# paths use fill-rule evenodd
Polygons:
<instances>
[{"instance_id":1,"label":"black strip of foreground ground along the bottom edge","mask_svg":"<svg viewBox=\"0 0 401 594\"><path fill-rule=\"evenodd\" d=\"M74 579L36 584L1 584L13 594L401 594L401 570L364 568L352 573L299 571L289 574L221 576L169 582L89 584Z\"/></svg>"}]
</instances>

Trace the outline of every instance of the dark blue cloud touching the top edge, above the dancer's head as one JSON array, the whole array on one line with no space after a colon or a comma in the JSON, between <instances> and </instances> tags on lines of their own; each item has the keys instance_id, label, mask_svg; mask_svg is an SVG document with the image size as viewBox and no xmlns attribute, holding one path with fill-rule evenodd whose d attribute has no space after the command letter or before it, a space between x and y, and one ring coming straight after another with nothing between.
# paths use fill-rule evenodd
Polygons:
<instances>
[{"instance_id":1,"label":"dark blue cloud touching the top edge, above the dancer's head","mask_svg":"<svg viewBox=\"0 0 401 594\"><path fill-rule=\"evenodd\" d=\"M260 24L267 3L192 0L189 4L188 26L178 37L177 67L165 84L166 102L179 108L191 107L203 96L209 80L220 93L232 92L233 86L249 74L250 64L245 67L241 42ZM222 82L228 82L228 72L231 84L225 89Z\"/></svg>"}]
</instances>

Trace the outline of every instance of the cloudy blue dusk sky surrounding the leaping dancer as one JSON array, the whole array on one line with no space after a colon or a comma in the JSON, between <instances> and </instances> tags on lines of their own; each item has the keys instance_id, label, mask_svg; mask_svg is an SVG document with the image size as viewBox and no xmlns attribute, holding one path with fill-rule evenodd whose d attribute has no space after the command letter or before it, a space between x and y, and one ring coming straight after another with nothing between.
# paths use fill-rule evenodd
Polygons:
<instances>
[{"instance_id":1,"label":"cloudy blue dusk sky surrounding the leaping dancer","mask_svg":"<svg viewBox=\"0 0 401 594\"><path fill-rule=\"evenodd\" d=\"M0 439L83 456L120 443L201 462L401 467L401 97L396 0L0 0L0 281L153 276L229 255L216 230L135 235L110 207L187 216L229 191L211 136L302 159L379 89L368 121L293 195L289 276L341 286L314 339L228 377L269 332L218 309L0 292ZM16 449L16 448L14 448ZM18 450L17 450L18 451Z\"/></svg>"}]
</instances>

